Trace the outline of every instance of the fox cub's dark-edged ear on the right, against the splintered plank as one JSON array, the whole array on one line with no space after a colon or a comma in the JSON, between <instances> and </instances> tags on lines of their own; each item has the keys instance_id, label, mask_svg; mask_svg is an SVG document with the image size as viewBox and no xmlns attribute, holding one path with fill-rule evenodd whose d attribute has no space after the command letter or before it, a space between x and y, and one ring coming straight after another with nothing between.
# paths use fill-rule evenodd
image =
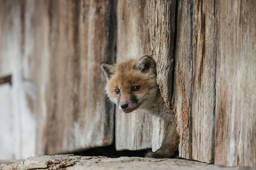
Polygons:
<instances>
[{"instance_id":1,"label":"fox cub's dark-edged ear on the right, against the splintered plank","mask_svg":"<svg viewBox=\"0 0 256 170\"><path fill-rule=\"evenodd\" d=\"M142 73L151 72L156 74L155 60L150 56L142 57L136 64L136 68L139 69Z\"/></svg>"}]
</instances>

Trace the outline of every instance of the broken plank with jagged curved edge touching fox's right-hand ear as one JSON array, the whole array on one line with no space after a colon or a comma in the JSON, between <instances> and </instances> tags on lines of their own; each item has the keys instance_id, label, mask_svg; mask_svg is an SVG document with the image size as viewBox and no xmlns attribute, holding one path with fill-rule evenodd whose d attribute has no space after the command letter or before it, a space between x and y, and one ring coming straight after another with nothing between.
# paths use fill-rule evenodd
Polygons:
<instances>
[{"instance_id":1,"label":"broken plank with jagged curved edge touching fox's right-hand ear","mask_svg":"<svg viewBox=\"0 0 256 170\"><path fill-rule=\"evenodd\" d=\"M151 55L156 61L157 84L166 106L171 109L173 48L175 34L175 1L148 1L148 27ZM153 117L152 151L161 147L168 124Z\"/></svg>"}]
</instances>

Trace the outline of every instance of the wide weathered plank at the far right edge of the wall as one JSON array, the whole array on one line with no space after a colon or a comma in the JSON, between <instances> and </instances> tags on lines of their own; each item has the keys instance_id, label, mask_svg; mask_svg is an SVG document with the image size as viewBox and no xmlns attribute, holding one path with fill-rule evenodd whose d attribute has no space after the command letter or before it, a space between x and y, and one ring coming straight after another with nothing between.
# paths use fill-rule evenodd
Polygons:
<instances>
[{"instance_id":1,"label":"wide weathered plank at the far right edge of the wall","mask_svg":"<svg viewBox=\"0 0 256 170\"><path fill-rule=\"evenodd\" d=\"M216 2L215 164L256 167L256 2Z\"/></svg>"}]
</instances>

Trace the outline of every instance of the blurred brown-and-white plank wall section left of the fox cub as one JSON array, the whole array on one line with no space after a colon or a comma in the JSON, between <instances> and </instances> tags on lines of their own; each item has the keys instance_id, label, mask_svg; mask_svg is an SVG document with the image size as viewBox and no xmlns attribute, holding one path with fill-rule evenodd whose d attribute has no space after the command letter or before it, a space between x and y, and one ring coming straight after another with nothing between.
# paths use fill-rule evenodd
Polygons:
<instances>
[{"instance_id":1,"label":"blurred brown-and-white plank wall section left of the fox cub","mask_svg":"<svg viewBox=\"0 0 256 170\"><path fill-rule=\"evenodd\" d=\"M5 159L112 144L100 63L115 62L114 14L113 1L1 1L0 73L13 74L0 89Z\"/></svg>"}]
</instances>

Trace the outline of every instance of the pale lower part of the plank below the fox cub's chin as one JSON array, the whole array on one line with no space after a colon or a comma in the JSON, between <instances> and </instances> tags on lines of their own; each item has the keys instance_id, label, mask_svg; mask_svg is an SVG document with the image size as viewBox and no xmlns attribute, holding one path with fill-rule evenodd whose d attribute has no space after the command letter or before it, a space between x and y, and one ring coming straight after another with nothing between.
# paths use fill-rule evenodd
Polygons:
<instances>
[{"instance_id":1,"label":"pale lower part of the plank below the fox cub's chin","mask_svg":"<svg viewBox=\"0 0 256 170\"><path fill-rule=\"evenodd\" d=\"M116 109L116 150L151 148L152 116L142 111L123 113Z\"/></svg>"}]
</instances>

